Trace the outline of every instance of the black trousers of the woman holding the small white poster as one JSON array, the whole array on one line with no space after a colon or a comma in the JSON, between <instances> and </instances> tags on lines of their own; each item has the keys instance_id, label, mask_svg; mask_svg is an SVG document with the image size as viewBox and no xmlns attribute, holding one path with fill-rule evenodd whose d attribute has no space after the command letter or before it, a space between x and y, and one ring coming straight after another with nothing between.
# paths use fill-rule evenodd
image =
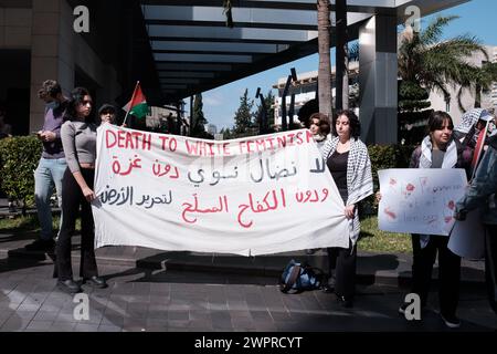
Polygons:
<instances>
[{"instance_id":1,"label":"black trousers of the woman holding the small white poster","mask_svg":"<svg viewBox=\"0 0 497 354\"><path fill-rule=\"evenodd\" d=\"M421 248L420 236L412 236L412 292L420 295L425 305L432 280L433 264L438 252L438 301L443 315L455 315L459 301L461 257L448 248L448 237L432 235L425 248Z\"/></svg>"}]
</instances>

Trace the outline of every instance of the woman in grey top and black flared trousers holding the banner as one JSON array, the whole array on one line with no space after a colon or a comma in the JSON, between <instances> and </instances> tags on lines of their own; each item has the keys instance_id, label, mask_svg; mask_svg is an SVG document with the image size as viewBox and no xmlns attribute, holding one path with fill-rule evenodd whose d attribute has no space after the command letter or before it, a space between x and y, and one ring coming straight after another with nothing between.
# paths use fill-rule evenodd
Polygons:
<instances>
[{"instance_id":1,"label":"woman in grey top and black flared trousers holding the banner","mask_svg":"<svg viewBox=\"0 0 497 354\"><path fill-rule=\"evenodd\" d=\"M73 280L71 264L71 237L80 211L81 214L81 266L80 277L93 287L105 288L104 279L98 277L95 248L94 221L91 202L96 198L93 191L96 157L96 125L91 121L93 101L84 87L73 90L67 106L61 139L64 147L67 169L62 179L62 214L56 244L57 287L71 293L81 292Z\"/></svg>"}]
</instances>

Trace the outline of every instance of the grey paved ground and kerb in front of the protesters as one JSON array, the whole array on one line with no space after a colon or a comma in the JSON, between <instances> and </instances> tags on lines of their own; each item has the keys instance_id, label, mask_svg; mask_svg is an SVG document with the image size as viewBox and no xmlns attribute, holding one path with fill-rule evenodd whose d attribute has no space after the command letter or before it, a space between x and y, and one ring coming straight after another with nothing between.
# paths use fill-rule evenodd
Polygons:
<instances>
[{"instance_id":1,"label":"grey paved ground and kerb in front of the protesters","mask_svg":"<svg viewBox=\"0 0 497 354\"><path fill-rule=\"evenodd\" d=\"M77 239L73 250L76 274ZM93 290L84 285L89 294L89 320L76 321L73 298L55 287L50 256L23 250L31 241L0 235L0 331L447 331L436 312L435 292L423 321L408 322L399 315L411 275L409 254L360 253L353 309L341 308L334 294L321 291L279 292L278 275L289 259L325 268L322 251L246 258L103 248L97 250L97 262L110 287ZM459 331L496 331L483 262L464 261L463 280Z\"/></svg>"}]
</instances>

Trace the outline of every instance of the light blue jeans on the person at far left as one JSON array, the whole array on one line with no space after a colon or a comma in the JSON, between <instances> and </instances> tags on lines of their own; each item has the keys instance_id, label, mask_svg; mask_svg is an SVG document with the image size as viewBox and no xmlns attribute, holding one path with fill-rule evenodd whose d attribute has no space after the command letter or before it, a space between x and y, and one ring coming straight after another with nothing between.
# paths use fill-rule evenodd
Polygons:
<instances>
[{"instance_id":1,"label":"light blue jeans on the person at far left","mask_svg":"<svg viewBox=\"0 0 497 354\"><path fill-rule=\"evenodd\" d=\"M42 240L51 240L53 238L50 197L53 194L53 187L55 187L59 207L62 207L62 177L66 168L65 158L49 159L42 157L34 171L34 201L36 202L38 219L41 226L40 238Z\"/></svg>"}]
</instances>

